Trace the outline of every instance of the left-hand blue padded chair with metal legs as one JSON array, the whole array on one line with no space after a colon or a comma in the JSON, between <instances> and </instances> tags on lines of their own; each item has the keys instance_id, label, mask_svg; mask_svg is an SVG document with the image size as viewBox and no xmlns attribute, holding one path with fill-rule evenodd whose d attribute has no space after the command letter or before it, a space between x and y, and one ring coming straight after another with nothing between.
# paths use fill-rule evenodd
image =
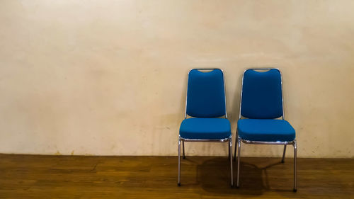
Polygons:
<instances>
[{"instance_id":1,"label":"left-hand blue padded chair with metal legs","mask_svg":"<svg viewBox=\"0 0 354 199\"><path fill-rule=\"evenodd\" d=\"M184 118L178 137L178 186L181 186L181 142L183 159L184 142L229 142L233 186L232 134L227 119L224 73L221 69L190 70Z\"/></svg>"}]
</instances>

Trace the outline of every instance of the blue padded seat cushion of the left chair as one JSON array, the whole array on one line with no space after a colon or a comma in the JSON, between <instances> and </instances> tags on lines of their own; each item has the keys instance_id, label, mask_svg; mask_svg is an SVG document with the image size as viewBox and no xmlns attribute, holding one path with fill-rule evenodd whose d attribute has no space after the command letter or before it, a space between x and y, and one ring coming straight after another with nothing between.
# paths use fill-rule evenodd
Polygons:
<instances>
[{"instance_id":1,"label":"blue padded seat cushion of the left chair","mask_svg":"<svg viewBox=\"0 0 354 199\"><path fill-rule=\"evenodd\" d=\"M225 139L231 136L231 125L224 118L188 118L183 120L179 135L185 139Z\"/></svg>"}]
</instances>

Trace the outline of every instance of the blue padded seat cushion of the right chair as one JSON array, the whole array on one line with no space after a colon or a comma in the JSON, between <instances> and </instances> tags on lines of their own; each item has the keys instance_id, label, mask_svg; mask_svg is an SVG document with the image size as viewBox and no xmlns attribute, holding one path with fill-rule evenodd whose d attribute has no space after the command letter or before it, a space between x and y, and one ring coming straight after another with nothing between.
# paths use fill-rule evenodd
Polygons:
<instances>
[{"instance_id":1,"label":"blue padded seat cushion of the right chair","mask_svg":"<svg viewBox=\"0 0 354 199\"><path fill-rule=\"evenodd\" d=\"M243 119L237 122L242 140L263 142L290 142L295 130L286 120Z\"/></svg>"}]
</instances>

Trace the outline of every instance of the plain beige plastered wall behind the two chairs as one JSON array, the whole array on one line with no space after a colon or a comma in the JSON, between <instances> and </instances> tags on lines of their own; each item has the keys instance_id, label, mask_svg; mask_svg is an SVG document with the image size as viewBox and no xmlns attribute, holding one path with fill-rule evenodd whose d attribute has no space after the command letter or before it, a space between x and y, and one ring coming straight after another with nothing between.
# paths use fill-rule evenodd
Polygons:
<instances>
[{"instance_id":1,"label":"plain beige plastered wall behind the two chairs","mask_svg":"<svg viewBox=\"0 0 354 199\"><path fill-rule=\"evenodd\" d=\"M278 67L299 157L354 157L353 10L350 0L0 1L0 153L176 155L189 69L224 69L234 134L241 73ZM186 150L226 155L227 144Z\"/></svg>"}]
</instances>

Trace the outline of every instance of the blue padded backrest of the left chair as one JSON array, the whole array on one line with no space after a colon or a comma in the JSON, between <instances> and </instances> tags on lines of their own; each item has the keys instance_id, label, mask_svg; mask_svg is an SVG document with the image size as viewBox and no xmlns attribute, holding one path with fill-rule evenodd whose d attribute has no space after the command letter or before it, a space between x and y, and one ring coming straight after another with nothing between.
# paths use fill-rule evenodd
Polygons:
<instances>
[{"instance_id":1,"label":"blue padded backrest of the left chair","mask_svg":"<svg viewBox=\"0 0 354 199\"><path fill-rule=\"evenodd\" d=\"M226 116L224 73L221 69L201 70L207 69L192 69L188 73L186 115L196 118Z\"/></svg>"}]
</instances>

